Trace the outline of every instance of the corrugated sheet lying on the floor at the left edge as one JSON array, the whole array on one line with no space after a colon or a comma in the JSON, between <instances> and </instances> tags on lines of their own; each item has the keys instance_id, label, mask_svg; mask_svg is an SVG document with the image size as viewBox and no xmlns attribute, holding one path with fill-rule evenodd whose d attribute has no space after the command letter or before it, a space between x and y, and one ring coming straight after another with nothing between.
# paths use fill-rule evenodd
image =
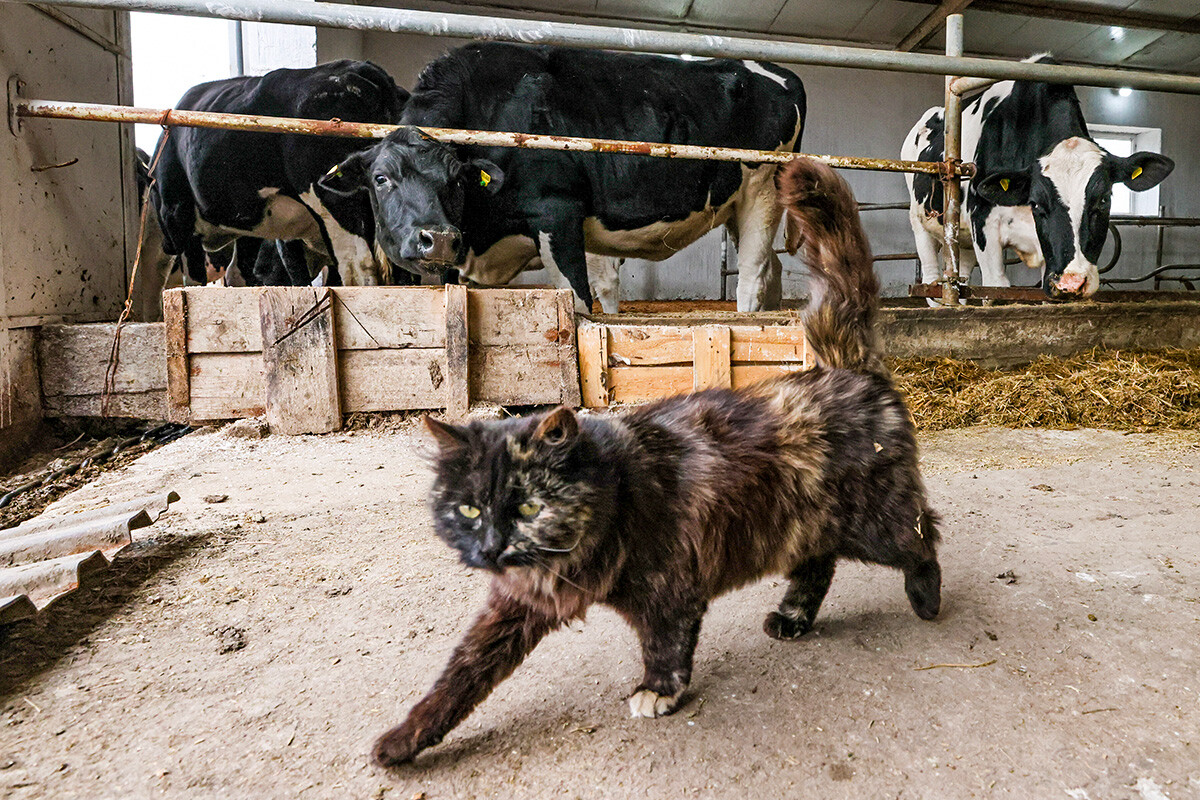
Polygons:
<instances>
[{"instance_id":1,"label":"corrugated sheet lying on the floor at the left edge","mask_svg":"<svg viewBox=\"0 0 1200 800\"><path fill-rule=\"evenodd\" d=\"M79 588L179 500L174 492L70 516L42 515L0 530L0 624L42 610Z\"/></svg>"}]
</instances>

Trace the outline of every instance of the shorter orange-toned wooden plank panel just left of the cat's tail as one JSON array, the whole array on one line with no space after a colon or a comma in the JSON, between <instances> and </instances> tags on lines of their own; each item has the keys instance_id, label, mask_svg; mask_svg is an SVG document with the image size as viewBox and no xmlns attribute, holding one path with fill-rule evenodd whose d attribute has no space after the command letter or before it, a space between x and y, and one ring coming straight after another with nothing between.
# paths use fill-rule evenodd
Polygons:
<instances>
[{"instance_id":1,"label":"shorter orange-toned wooden plank panel just left of the cat's tail","mask_svg":"<svg viewBox=\"0 0 1200 800\"><path fill-rule=\"evenodd\" d=\"M583 404L589 408L738 389L809 367L804 327L788 313L749 319L599 318L580 323L578 349Z\"/></svg>"}]
</instances>

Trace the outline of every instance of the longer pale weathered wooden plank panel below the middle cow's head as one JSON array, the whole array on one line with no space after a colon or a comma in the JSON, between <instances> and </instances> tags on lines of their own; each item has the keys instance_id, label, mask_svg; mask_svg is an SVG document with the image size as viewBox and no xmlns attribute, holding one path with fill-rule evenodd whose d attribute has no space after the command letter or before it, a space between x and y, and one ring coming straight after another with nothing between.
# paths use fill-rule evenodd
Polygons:
<instances>
[{"instance_id":1,"label":"longer pale weathered wooden plank panel below the middle cow's head","mask_svg":"<svg viewBox=\"0 0 1200 800\"><path fill-rule=\"evenodd\" d=\"M170 419L580 403L574 300L547 289L187 288L164 295Z\"/></svg>"}]
</instances>

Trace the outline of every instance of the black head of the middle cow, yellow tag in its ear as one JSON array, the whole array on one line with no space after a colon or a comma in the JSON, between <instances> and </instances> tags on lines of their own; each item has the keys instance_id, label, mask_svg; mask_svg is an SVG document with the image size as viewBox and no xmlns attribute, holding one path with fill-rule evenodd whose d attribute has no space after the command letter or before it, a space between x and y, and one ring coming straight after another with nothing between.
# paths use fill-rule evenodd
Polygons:
<instances>
[{"instance_id":1,"label":"black head of the middle cow, yellow tag in its ear","mask_svg":"<svg viewBox=\"0 0 1200 800\"><path fill-rule=\"evenodd\" d=\"M467 192L494 193L504 181L490 161L463 161L454 148L404 127L354 154L318 181L341 196L366 192L376 241L394 264L440 277L467 255L461 230Z\"/></svg>"}]
</instances>

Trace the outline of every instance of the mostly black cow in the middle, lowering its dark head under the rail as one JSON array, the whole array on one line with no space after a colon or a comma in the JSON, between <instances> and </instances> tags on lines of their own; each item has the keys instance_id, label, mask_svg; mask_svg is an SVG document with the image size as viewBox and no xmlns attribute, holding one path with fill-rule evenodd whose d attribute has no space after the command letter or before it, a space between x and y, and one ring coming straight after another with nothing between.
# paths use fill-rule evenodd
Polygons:
<instances>
[{"instance_id":1,"label":"mostly black cow in the middle, lowering its dark head under the rail","mask_svg":"<svg viewBox=\"0 0 1200 800\"><path fill-rule=\"evenodd\" d=\"M800 80L770 64L479 43L425 68L401 122L792 150L804 114ZM451 148L406 128L322 185L370 194L378 241L406 269L456 267L499 285L546 266L581 306L590 309L595 289L608 312L616 259L661 260L726 224L738 308L756 311L778 308L782 293L774 174L774 164Z\"/></svg>"}]
</instances>

